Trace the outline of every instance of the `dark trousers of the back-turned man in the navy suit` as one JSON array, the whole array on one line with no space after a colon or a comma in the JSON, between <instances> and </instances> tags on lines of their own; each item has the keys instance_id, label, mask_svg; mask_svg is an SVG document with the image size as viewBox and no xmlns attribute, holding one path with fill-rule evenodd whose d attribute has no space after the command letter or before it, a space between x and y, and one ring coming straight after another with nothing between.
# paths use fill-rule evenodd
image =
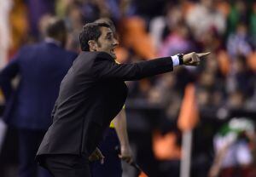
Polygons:
<instances>
[{"instance_id":1,"label":"dark trousers of the back-turned man in the navy suit","mask_svg":"<svg viewBox=\"0 0 256 177\"><path fill-rule=\"evenodd\" d=\"M18 129L19 177L51 176L44 168L38 168L35 162L35 156L44 134L44 130Z\"/></svg>"}]
</instances>

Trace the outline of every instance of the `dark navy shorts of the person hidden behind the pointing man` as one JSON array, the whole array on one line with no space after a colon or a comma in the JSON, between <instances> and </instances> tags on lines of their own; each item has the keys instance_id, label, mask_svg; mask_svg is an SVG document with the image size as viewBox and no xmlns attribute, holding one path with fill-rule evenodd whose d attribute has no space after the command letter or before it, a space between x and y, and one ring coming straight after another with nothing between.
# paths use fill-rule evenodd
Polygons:
<instances>
[{"instance_id":1,"label":"dark navy shorts of the person hidden behind the pointing man","mask_svg":"<svg viewBox=\"0 0 256 177\"><path fill-rule=\"evenodd\" d=\"M115 147L119 146L119 139L114 128L108 128L105 131L104 139L98 146L102 151L104 163L99 161L90 163L92 177L121 177L122 166Z\"/></svg>"}]
</instances>

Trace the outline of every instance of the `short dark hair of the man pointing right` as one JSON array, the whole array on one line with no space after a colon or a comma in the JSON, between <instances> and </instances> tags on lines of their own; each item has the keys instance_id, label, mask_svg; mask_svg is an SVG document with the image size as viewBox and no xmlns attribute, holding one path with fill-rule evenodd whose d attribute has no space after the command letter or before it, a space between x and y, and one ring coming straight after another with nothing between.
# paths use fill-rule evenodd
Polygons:
<instances>
[{"instance_id":1,"label":"short dark hair of the man pointing right","mask_svg":"<svg viewBox=\"0 0 256 177\"><path fill-rule=\"evenodd\" d=\"M102 35L100 30L101 27L108 27L110 26L107 23L88 23L83 26L83 30L79 35L79 41L82 51L89 51L90 46L88 42L90 40L98 41L98 38Z\"/></svg>"}]
</instances>

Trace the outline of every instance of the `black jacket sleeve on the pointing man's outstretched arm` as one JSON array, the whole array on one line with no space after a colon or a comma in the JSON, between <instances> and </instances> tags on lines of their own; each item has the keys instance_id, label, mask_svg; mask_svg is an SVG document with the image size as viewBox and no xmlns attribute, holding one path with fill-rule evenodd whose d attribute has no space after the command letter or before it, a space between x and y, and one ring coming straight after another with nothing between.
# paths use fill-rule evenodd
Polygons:
<instances>
[{"instance_id":1,"label":"black jacket sleeve on the pointing man's outstretched arm","mask_svg":"<svg viewBox=\"0 0 256 177\"><path fill-rule=\"evenodd\" d=\"M117 64L103 54L98 54L93 65L94 76L98 79L138 80L173 70L172 57L158 58L133 64Z\"/></svg>"}]
</instances>

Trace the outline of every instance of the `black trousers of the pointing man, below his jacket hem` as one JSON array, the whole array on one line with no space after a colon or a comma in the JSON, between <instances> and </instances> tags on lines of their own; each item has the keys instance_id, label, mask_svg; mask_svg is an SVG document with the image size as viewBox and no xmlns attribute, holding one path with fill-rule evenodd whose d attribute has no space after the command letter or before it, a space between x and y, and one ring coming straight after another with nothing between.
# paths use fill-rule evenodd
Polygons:
<instances>
[{"instance_id":1,"label":"black trousers of the pointing man, below his jacket hem","mask_svg":"<svg viewBox=\"0 0 256 177\"><path fill-rule=\"evenodd\" d=\"M45 155L40 165L54 177L90 177L88 158L79 155Z\"/></svg>"}]
</instances>

